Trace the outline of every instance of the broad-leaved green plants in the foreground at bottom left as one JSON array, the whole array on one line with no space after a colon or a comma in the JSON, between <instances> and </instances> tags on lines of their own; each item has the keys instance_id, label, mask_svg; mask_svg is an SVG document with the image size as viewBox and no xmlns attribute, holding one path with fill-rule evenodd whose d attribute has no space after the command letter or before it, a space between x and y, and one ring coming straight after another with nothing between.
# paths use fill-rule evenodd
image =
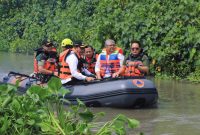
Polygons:
<instances>
[{"instance_id":1,"label":"broad-leaved green plants in the foreground at bottom left","mask_svg":"<svg viewBox=\"0 0 200 135\"><path fill-rule=\"evenodd\" d=\"M139 125L138 121L119 115L101 128L94 121L102 113L92 113L80 100L78 105L71 105L62 99L69 91L58 78L52 78L47 87L30 87L25 95L17 95L17 89L17 86L0 85L1 135L125 134L126 124L132 129Z\"/></svg>"}]
</instances>

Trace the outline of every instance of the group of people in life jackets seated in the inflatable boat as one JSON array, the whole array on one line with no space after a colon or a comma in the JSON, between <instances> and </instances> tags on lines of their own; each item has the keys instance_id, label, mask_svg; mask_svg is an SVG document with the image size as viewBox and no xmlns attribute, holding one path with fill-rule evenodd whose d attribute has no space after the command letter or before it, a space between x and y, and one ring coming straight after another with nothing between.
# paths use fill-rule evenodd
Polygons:
<instances>
[{"instance_id":1,"label":"group of people in life jackets seated in the inflatable boat","mask_svg":"<svg viewBox=\"0 0 200 135\"><path fill-rule=\"evenodd\" d=\"M149 72L149 60L142 52L141 43L130 43L131 53L125 58L122 48L114 40L107 39L100 54L91 45L66 38L61 43L62 52L51 41L44 41L34 54L33 76L47 82L52 76L62 84L73 85L80 81L116 78L120 76L144 76Z\"/></svg>"}]
</instances>

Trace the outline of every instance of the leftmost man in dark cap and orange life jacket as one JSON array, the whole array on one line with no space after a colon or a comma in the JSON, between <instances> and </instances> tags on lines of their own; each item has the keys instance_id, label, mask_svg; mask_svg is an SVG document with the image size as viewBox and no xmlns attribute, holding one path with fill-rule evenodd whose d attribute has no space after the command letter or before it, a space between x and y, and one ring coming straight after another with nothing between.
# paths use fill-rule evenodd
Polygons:
<instances>
[{"instance_id":1,"label":"leftmost man in dark cap and orange life jacket","mask_svg":"<svg viewBox=\"0 0 200 135\"><path fill-rule=\"evenodd\" d=\"M58 75L56 48L51 41L44 40L42 48L35 51L33 76L42 82L47 82L51 76Z\"/></svg>"}]
</instances>

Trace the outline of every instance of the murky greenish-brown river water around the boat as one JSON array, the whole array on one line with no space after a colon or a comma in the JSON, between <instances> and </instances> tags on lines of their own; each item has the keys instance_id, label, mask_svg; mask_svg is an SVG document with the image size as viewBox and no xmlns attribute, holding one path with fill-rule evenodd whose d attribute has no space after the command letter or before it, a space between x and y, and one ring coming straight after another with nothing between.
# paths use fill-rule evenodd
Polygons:
<instances>
[{"instance_id":1,"label":"murky greenish-brown river water around the boat","mask_svg":"<svg viewBox=\"0 0 200 135\"><path fill-rule=\"evenodd\" d=\"M0 78L9 71L30 74L33 56L0 52ZM200 84L175 80L154 81L158 93L158 107L152 109L91 108L105 112L100 121L106 122L118 114L140 121L140 127L128 134L145 135L199 135L200 134Z\"/></svg>"}]
</instances>

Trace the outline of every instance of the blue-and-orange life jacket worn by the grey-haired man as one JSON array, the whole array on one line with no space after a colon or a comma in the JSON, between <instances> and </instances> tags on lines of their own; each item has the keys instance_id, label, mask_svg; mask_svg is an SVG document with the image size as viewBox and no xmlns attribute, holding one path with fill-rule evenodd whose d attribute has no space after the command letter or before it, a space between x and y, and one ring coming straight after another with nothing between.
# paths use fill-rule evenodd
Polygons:
<instances>
[{"instance_id":1,"label":"blue-and-orange life jacket worn by the grey-haired man","mask_svg":"<svg viewBox=\"0 0 200 135\"><path fill-rule=\"evenodd\" d=\"M106 72L109 72L111 75L120 68L120 60L118 59L118 51L115 50L112 54L107 55L107 52L104 51L100 54L100 75L105 76ZM109 59L108 59L109 57Z\"/></svg>"}]
</instances>

